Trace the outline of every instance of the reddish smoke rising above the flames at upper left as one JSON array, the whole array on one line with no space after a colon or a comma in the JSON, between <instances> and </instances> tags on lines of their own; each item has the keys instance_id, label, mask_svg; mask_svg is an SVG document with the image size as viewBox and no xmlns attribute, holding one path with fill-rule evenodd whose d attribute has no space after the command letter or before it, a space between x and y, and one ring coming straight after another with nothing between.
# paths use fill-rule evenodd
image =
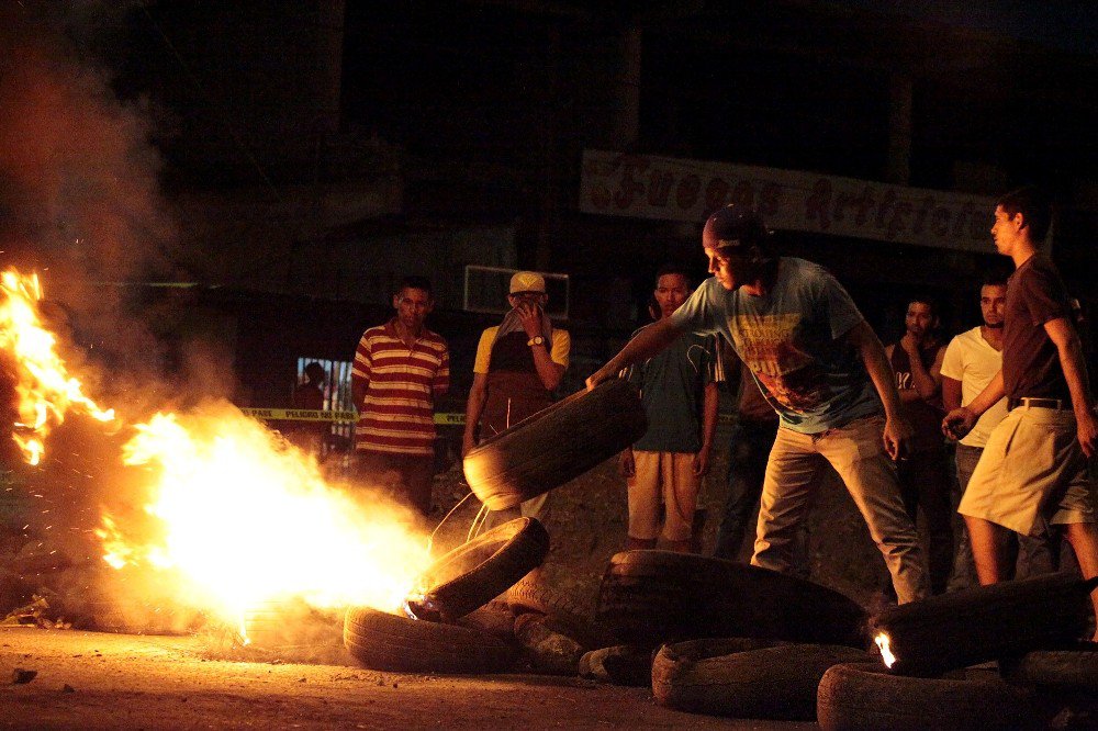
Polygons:
<instances>
[{"instance_id":1,"label":"reddish smoke rising above the flames at upper left","mask_svg":"<svg viewBox=\"0 0 1098 731\"><path fill-rule=\"evenodd\" d=\"M0 261L42 272L83 345L148 360L155 342L125 322L113 283L169 271L176 227L142 102L122 103L89 50L132 8L23 0L0 10Z\"/></svg>"}]
</instances>

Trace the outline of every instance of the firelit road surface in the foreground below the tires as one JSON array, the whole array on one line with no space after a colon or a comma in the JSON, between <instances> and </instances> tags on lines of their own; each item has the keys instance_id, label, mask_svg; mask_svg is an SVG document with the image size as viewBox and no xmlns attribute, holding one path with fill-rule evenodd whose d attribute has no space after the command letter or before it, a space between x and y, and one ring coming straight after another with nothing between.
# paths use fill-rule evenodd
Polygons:
<instances>
[{"instance_id":1,"label":"firelit road surface in the foreground below the tires","mask_svg":"<svg viewBox=\"0 0 1098 731\"><path fill-rule=\"evenodd\" d=\"M695 716L645 688L226 660L200 637L0 628L0 727L21 729L811 729ZM15 668L36 671L13 683Z\"/></svg>"}]
</instances>

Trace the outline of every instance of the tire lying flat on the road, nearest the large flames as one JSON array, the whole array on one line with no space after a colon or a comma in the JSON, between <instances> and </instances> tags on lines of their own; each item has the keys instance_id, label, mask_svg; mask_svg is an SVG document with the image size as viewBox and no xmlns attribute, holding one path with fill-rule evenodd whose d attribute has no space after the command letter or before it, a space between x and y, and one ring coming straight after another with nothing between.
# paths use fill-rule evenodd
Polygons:
<instances>
[{"instance_id":1,"label":"tire lying flat on the road, nearest the large flames","mask_svg":"<svg viewBox=\"0 0 1098 731\"><path fill-rule=\"evenodd\" d=\"M352 607L344 644L363 667L402 673L497 673L515 661L509 644L467 627Z\"/></svg>"}]
</instances>

